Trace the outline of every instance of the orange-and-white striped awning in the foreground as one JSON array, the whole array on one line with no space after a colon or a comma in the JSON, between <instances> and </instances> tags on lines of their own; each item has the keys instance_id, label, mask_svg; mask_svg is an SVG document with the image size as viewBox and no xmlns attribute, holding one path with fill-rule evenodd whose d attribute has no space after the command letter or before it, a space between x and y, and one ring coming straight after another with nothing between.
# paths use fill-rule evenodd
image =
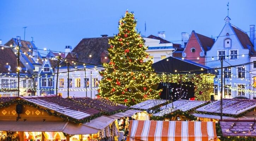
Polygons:
<instances>
[{"instance_id":1,"label":"orange-and-white striped awning in the foreground","mask_svg":"<svg viewBox=\"0 0 256 141\"><path fill-rule=\"evenodd\" d=\"M214 122L130 121L127 141L217 141Z\"/></svg>"}]
</instances>

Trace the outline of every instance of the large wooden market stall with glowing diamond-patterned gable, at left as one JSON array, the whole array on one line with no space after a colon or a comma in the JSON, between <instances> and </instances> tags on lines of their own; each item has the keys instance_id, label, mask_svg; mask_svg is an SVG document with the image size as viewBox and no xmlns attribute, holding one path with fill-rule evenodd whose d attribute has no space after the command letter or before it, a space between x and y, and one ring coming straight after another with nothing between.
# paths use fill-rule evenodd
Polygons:
<instances>
[{"instance_id":1,"label":"large wooden market stall with glowing diamond-patterned gable, at left","mask_svg":"<svg viewBox=\"0 0 256 141\"><path fill-rule=\"evenodd\" d=\"M58 96L0 98L1 141L114 141L117 137L115 118L83 104Z\"/></svg>"}]
</instances>

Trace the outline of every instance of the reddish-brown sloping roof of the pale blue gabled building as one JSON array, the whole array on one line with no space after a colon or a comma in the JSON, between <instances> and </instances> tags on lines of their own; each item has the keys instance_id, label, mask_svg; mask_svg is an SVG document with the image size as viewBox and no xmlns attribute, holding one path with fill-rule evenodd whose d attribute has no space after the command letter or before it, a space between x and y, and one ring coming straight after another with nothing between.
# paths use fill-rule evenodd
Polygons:
<instances>
[{"instance_id":1,"label":"reddish-brown sloping roof of the pale blue gabled building","mask_svg":"<svg viewBox=\"0 0 256 141\"><path fill-rule=\"evenodd\" d=\"M249 49L251 53L255 53L254 46L252 45L249 36L241 29L234 25L231 25L237 38L245 49Z\"/></svg>"}]
</instances>

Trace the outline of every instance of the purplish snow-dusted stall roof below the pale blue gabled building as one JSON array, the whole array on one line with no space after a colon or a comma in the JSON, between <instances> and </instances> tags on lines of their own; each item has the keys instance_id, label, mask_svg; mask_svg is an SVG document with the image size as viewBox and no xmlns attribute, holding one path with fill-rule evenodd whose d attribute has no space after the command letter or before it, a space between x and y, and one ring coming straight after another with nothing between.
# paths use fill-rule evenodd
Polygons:
<instances>
[{"instance_id":1,"label":"purplish snow-dusted stall roof below the pale blue gabled building","mask_svg":"<svg viewBox=\"0 0 256 141\"><path fill-rule=\"evenodd\" d=\"M252 99L223 99L222 113L225 116L239 116L256 108L256 100ZM220 100L196 109L199 114L220 114Z\"/></svg>"}]
</instances>

